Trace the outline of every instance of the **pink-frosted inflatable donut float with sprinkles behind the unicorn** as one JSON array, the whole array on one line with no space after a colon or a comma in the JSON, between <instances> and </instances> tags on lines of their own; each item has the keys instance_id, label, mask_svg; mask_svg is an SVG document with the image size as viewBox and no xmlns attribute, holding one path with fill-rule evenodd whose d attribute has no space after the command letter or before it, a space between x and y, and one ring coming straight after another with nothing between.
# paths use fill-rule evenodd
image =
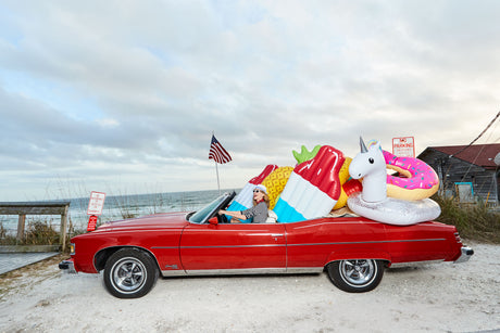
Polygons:
<instances>
[{"instance_id":1,"label":"pink-frosted inflatable donut float with sprinkles behind the unicorn","mask_svg":"<svg viewBox=\"0 0 500 333\"><path fill-rule=\"evenodd\" d=\"M436 171L425 162L415 157L398 157L383 151L388 169L402 177L387 175L387 196L401 200L423 200L439 189Z\"/></svg>"}]
</instances>

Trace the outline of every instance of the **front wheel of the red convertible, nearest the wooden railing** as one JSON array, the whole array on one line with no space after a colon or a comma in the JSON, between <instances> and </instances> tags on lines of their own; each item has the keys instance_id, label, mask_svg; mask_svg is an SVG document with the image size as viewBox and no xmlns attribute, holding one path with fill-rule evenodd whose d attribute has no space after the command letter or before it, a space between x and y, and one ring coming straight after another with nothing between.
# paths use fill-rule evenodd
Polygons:
<instances>
[{"instance_id":1,"label":"front wheel of the red convertible, nearest the wooden railing","mask_svg":"<svg viewBox=\"0 0 500 333\"><path fill-rule=\"evenodd\" d=\"M158 274L157 264L148 253L126 247L105 262L104 284L113 296L138 298L149 293Z\"/></svg>"}]
</instances>

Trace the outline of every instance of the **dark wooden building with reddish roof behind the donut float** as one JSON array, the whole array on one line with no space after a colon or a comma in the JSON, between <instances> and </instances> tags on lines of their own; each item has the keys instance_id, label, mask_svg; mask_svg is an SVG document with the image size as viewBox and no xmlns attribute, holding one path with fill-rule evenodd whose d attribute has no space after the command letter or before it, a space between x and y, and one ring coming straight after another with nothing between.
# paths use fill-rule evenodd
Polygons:
<instances>
[{"instance_id":1,"label":"dark wooden building with reddish roof behind the donut float","mask_svg":"<svg viewBox=\"0 0 500 333\"><path fill-rule=\"evenodd\" d=\"M428 146L417 157L438 174L441 195L499 204L500 143Z\"/></svg>"}]
</instances>

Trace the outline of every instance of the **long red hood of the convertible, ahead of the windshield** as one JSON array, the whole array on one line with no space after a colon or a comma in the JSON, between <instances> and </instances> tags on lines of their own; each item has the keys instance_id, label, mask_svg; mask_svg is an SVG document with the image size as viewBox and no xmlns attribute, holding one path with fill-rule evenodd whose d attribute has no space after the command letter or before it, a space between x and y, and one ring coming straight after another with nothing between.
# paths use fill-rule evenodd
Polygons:
<instances>
[{"instance_id":1,"label":"long red hood of the convertible, ahead of the windshield","mask_svg":"<svg viewBox=\"0 0 500 333\"><path fill-rule=\"evenodd\" d=\"M163 213L118 221L109 221L98 228L99 231L116 229L179 228L187 223L187 213Z\"/></svg>"}]
</instances>

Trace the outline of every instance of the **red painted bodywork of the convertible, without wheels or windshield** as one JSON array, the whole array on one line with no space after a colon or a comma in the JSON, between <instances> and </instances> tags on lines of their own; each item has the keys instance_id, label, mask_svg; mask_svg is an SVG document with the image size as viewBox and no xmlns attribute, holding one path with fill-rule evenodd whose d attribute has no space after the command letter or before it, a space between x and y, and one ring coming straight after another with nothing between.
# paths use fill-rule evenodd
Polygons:
<instances>
[{"instance_id":1,"label":"red painted bodywork of the convertible, without wheels or windshield","mask_svg":"<svg viewBox=\"0 0 500 333\"><path fill-rule=\"evenodd\" d=\"M318 218L295 223L197 225L186 213L110 222L72 239L76 271L97 273L115 249L149 252L163 276L270 269L321 271L335 260L372 258L391 264L455 260L462 244L453 226L390 226L363 217Z\"/></svg>"}]
</instances>

